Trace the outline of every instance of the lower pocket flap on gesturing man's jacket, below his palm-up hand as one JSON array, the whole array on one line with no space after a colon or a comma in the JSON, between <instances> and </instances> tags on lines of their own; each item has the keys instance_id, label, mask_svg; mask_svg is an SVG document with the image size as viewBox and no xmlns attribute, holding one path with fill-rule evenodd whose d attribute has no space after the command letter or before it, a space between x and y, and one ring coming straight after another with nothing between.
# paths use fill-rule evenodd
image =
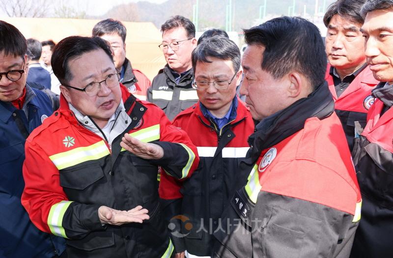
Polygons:
<instances>
[{"instance_id":1,"label":"lower pocket flap on gesturing man's jacket, below his palm-up hand","mask_svg":"<svg viewBox=\"0 0 393 258\"><path fill-rule=\"evenodd\" d=\"M114 235L111 231L91 232L83 239L66 240L67 245L84 251L111 247L114 245Z\"/></svg>"}]
</instances>

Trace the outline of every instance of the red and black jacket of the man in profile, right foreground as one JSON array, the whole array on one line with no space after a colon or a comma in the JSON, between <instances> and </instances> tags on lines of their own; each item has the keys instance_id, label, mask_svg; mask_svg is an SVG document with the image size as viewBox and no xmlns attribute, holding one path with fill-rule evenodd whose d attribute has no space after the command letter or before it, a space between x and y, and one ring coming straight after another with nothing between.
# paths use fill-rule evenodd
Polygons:
<instances>
[{"instance_id":1,"label":"red and black jacket of the man in profile, right foreground","mask_svg":"<svg viewBox=\"0 0 393 258\"><path fill-rule=\"evenodd\" d=\"M361 196L327 84L261 120L249 144L213 257L347 258Z\"/></svg>"}]
</instances>

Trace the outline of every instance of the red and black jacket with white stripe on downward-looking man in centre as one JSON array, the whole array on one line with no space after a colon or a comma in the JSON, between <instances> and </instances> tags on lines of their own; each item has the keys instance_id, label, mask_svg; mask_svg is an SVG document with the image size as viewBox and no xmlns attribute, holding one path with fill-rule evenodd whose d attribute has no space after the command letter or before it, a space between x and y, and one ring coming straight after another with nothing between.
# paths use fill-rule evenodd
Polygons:
<instances>
[{"instance_id":1,"label":"red and black jacket with white stripe on downward-looking man in centre","mask_svg":"<svg viewBox=\"0 0 393 258\"><path fill-rule=\"evenodd\" d=\"M190 136L200 157L197 171L184 182L165 174L161 176L160 197L182 198L181 208L177 208L177 213L172 211L176 214L170 217L182 214L193 225L188 230L182 227L184 247L174 240L177 252L187 249L196 256L210 255L212 232L219 226L218 221L229 204L228 199L234 194L239 180L243 183L247 180L247 175L242 176L238 167L249 150L247 139L253 133L254 123L247 107L239 99L236 101L237 108L232 111L236 115L222 129L218 129L213 119L208 120L203 115L199 102L173 120L174 126ZM198 230L201 228L204 230Z\"/></svg>"}]
</instances>

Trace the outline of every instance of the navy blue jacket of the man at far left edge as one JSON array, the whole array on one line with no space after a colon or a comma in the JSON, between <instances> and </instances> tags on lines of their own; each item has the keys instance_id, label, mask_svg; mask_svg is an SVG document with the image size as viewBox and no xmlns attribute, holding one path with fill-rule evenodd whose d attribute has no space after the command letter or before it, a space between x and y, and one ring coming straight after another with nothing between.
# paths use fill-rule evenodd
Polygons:
<instances>
[{"instance_id":1,"label":"navy blue jacket of the man at far left edge","mask_svg":"<svg viewBox=\"0 0 393 258\"><path fill-rule=\"evenodd\" d=\"M65 250L64 239L38 230L21 204L26 134L53 112L45 93L26 90L21 110L0 101L0 258L52 258Z\"/></svg>"}]
</instances>

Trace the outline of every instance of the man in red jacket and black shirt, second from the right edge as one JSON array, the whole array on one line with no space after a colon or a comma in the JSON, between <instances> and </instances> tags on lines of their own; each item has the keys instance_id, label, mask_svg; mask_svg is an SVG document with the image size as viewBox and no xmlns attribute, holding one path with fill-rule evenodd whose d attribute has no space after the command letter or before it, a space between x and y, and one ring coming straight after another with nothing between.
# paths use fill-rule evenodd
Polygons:
<instances>
[{"instance_id":1,"label":"man in red jacket and black shirt, second from the right edge","mask_svg":"<svg viewBox=\"0 0 393 258\"><path fill-rule=\"evenodd\" d=\"M364 2L337 0L323 17L328 28L325 51L329 65L325 79L350 151L355 137L355 121L365 123L367 111L374 102L371 90L378 84L365 62L365 39L360 31L364 22L360 8Z\"/></svg>"}]
</instances>

